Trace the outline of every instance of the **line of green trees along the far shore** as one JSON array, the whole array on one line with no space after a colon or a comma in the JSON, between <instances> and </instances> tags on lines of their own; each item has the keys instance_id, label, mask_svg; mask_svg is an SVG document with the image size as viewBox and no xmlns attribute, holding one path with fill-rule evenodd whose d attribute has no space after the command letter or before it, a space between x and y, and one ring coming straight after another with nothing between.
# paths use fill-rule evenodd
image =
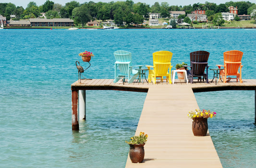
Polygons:
<instances>
[{"instance_id":1,"label":"line of green trees along the far shore","mask_svg":"<svg viewBox=\"0 0 256 168\"><path fill-rule=\"evenodd\" d=\"M208 20L213 20L215 15L220 12L228 12L228 7L234 6L238 9L238 15L251 14L256 10L256 4L249 1L233 2L229 1L217 5L216 3L205 2L195 3L185 6L170 6L167 2L155 2L150 6L146 3L134 3L133 0L111 1L111 2L85 2L80 4L73 0L64 6L53 1L47 0L43 5L37 6L36 2L31 1L24 9L22 6L15 6L12 3L0 3L0 14L10 20L10 15L15 15L12 20L21 20L41 17L41 12L45 12L48 19L70 18L75 24L85 25L90 20L114 20L116 24L126 22L140 24L148 14L160 13L163 18L170 17L169 11L185 11L186 14L195 10L205 10Z\"/></svg>"}]
</instances>

